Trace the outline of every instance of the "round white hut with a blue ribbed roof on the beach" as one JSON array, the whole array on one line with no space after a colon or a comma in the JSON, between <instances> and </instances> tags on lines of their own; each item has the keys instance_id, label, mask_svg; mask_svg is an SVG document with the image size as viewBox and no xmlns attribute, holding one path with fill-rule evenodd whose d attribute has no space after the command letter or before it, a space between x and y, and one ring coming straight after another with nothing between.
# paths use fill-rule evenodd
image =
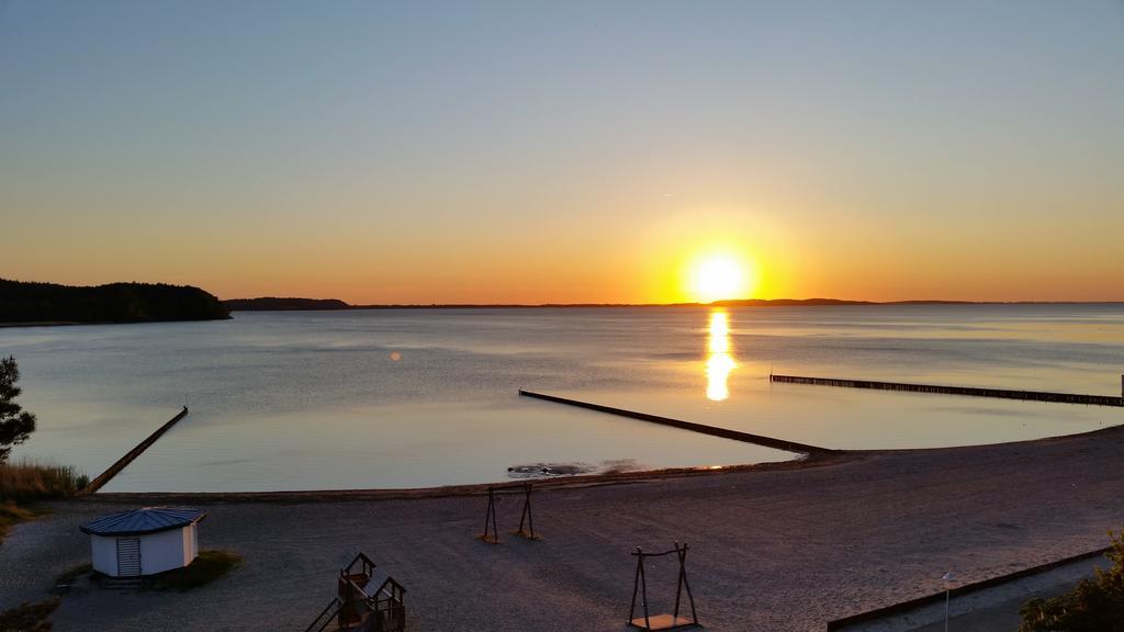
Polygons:
<instances>
[{"instance_id":1,"label":"round white hut with a blue ribbed roof on the beach","mask_svg":"<svg viewBox=\"0 0 1124 632\"><path fill-rule=\"evenodd\" d=\"M182 568L199 556L196 527L206 512L144 507L108 514L82 525L90 534L93 570L137 577Z\"/></svg>"}]
</instances>

